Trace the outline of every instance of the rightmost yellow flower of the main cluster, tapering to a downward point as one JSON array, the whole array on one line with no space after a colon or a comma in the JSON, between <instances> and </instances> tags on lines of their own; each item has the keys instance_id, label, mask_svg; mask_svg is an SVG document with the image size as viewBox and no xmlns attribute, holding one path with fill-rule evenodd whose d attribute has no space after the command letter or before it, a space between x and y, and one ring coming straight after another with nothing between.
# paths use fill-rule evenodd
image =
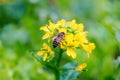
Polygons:
<instances>
[{"instance_id":1,"label":"rightmost yellow flower of the main cluster, tapering to a downward point","mask_svg":"<svg viewBox=\"0 0 120 80\"><path fill-rule=\"evenodd\" d=\"M89 57L91 52L95 49L95 44L94 43L88 43L88 44L82 45L82 47L87 52L87 55Z\"/></svg>"}]
</instances>

